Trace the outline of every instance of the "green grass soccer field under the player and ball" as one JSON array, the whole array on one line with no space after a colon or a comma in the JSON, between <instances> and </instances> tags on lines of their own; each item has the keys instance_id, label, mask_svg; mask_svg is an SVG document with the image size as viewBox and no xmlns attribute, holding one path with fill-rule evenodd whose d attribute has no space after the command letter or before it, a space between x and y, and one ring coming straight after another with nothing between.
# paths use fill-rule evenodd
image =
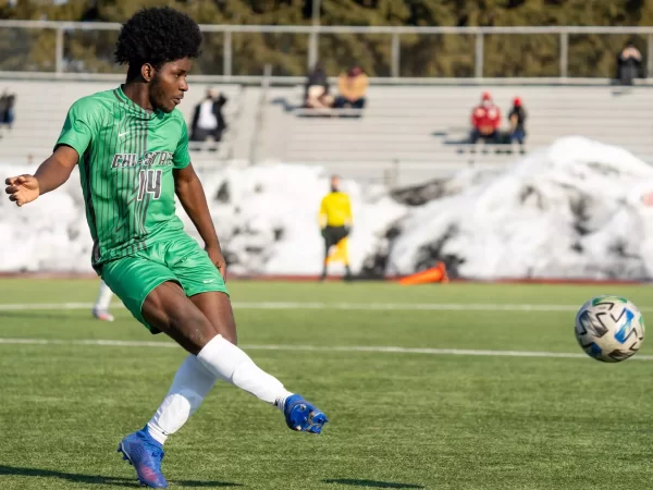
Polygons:
<instances>
[{"instance_id":1,"label":"green grass soccer field under the player and ball","mask_svg":"<svg viewBox=\"0 0 653 490\"><path fill-rule=\"evenodd\" d=\"M646 318L650 287L230 287L243 348L331 422L320 437L292 432L219 383L167 443L171 488L653 488L650 345L618 365L508 355L580 354L575 308L615 293ZM0 280L1 490L137 487L115 448L149 419L184 353L118 304L113 323L60 306L96 291L96 281ZM60 342L36 342L46 340ZM127 342L79 342L98 340Z\"/></svg>"}]
</instances>

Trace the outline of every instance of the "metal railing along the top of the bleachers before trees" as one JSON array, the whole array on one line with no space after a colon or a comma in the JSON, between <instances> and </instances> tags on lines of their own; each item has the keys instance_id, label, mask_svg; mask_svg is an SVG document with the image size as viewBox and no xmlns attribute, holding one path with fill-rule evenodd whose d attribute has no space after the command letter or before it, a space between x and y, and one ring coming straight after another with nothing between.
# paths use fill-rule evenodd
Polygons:
<instances>
[{"instance_id":1,"label":"metal railing along the top of the bleachers before trees","mask_svg":"<svg viewBox=\"0 0 653 490\"><path fill-rule=\"evenodd\" d=\"M67 70L64 60L65 34L72 32L100 33L118 32L121 24L97 22L56 22L56 21L0 21L0 33L5 29L47 30L53 33L53 66L50 71L62 75ZM211 79L236 79L249 76L252 82L262 79L262 76L242 75L234 73L234 42L235 34L295 34L308 36L308 51L305 65L315 65L319 60L319 46L321 36L361 34L389 36L390 45L390 76L384 78L402 78L402 47L401 36L404 35L466 35L475 36L473 41L473 77L483 78L485 58L485 37L490 35L555 35L558 36L559 68L557 77L566 79L569 76L569 36L571 35L628 35L646 37L646 66L653 68L653 26L646 27L602 27L602 26L545 26L545 27L402 27L402 26L325 26L325 25L200 25L205 35L218 34L222 36L222 73L207 74ZM21 70L12 70L21 72ZM292 78L291 76L276 78Z\"/></svg>"}]
</instances>

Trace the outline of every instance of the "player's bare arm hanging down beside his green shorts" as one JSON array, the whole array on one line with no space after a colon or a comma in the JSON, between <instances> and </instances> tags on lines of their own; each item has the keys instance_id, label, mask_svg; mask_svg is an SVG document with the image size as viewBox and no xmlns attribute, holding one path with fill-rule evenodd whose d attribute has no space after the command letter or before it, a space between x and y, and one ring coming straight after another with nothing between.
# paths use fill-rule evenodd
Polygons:
<instances>
[{"instance_id":1,"label":"player's bare arm hanging down beside his green shorts","mask_svg":"<svg viewBox=\"0 0 653 490\"><path fill-rule=\"evenodd\" d=\"M174 192L180 198L184 210L195 224L201 240L205 242L205 248L209 257L220 270L223 278L226 278L226 262L220 248L220 241L211 220L209 205L199 177L195 173L192 164L184 169L174 170Z\"/></svg>"}]
</instances>

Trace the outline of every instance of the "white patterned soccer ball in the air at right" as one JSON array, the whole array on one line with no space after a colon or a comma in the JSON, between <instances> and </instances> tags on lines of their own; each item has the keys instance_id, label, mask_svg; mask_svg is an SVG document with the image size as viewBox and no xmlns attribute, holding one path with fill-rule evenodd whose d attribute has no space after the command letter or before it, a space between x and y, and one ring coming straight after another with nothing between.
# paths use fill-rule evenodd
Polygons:
<instances>
[{"instance_id":1,"label":"white patterned soccer ball in the air at right","mask_svg":"<svg viewBox=\"0 0 653 490\"><path fill-rule=\"evenodd\" d=\"M576 340L596 360L619 363L638 352L644 341L644 318L628 299L593 297L576 315Z\"/></svg>"}]
</instances>

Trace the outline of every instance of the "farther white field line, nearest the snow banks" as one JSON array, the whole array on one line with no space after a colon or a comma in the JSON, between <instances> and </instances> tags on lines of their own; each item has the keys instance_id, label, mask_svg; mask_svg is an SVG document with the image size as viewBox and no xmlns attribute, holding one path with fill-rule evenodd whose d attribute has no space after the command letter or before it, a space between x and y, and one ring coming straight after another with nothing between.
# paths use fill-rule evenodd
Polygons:
<instances>
[{"instance_id":1,"label":"farther white field line, nearest the snow banks","mask_svg":"<svg viewBox=\"0 0 653 490\"><path fill-rule=\"evenodd\" d=\"M331 309L331 310L451 310L451 311L577 311L580 305L531 305L493 303L320 303L320 302L234 302L235 309ZM113 305L122 307L122 305ZM0 304L0 311L90 309L91 303ZM640 308L653 311L653 307Z\"/></svg>"}]
</instances>

